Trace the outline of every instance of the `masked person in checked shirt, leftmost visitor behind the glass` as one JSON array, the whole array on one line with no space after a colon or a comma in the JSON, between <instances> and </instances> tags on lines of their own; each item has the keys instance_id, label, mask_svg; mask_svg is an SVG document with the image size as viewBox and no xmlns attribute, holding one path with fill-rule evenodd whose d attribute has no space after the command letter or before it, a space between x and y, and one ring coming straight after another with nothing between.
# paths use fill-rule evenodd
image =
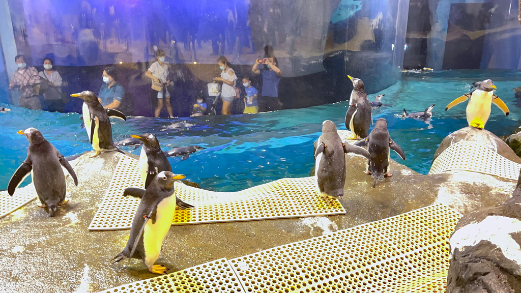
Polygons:
<instances>
[{"instance_id":1,"label":"masked person in checked shirt, leftmost visitor behind the glass","mask_svg":"<svg viewBox=\"0 0 521 293\"><path fill-rule=\"evenodd\" d=\"M18 89L20 93L20 107L28 109L42 109L42 104L37 95L33 93L33 86L40 83L38 70L34 67L27 67L26 57L17 55L15 63L18 69L13 73L9 82L9 89Z\"/></svg>"}]
</instances>

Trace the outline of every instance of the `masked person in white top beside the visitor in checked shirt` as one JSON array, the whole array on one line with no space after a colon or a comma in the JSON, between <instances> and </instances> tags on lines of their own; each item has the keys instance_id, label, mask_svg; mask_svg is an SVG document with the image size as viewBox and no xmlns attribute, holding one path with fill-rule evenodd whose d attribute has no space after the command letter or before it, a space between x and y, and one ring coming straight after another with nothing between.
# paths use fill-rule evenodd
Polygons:
<instances>
[{"instance_id":1,"label":"masked person in white top beside the visitor in checked shirt","mask_svg":"<svg viewBox=\"0 0 521 293\"><path fill-rule=\"evenodd\" d=\"M43 59L43 68L38 75L47 80L49 87L43 92L43 99L47 104L47 110L50 112L64 112L64 101L61 94L61 76L53 68L53 60L51 58Z\"/></svg>"}]
</instances>

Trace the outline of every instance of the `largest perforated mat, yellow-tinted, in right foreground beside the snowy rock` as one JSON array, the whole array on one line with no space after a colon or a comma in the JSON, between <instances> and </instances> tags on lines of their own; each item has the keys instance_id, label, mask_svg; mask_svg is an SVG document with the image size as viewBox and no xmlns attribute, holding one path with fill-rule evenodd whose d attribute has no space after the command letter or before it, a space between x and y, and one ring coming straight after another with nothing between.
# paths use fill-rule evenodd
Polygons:
<instances>
[{"instance_id":1,"label":"largest perforated mat, yellow-tinted, in right foreground beside the snowy rock","mask_svg":"<svg viewBox=\"0 0 521 293\"><path fill-rule=\"evenodd\" d=\"M229 262L246 292L440 291L460 217L432 205Z\"/></svg>"}]
</instances>

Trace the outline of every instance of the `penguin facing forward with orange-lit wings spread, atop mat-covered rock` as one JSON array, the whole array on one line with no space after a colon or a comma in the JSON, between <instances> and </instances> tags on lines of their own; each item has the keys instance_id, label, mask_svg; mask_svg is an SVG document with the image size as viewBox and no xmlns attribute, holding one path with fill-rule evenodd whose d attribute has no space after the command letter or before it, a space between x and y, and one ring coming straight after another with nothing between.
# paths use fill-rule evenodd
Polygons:
<instances>
[{"instance_id":1,"label":"penguin facing forward with orange-lit wings spread, atop mat-covered rock","mask_svg":"<svg viewBox=\"0 0 521 293\"><path fill-rule=\"evenodd\" d=\"M490 79L474 82L473 87L476 87L472 92L466 93L456 100L452 101L445 107L445 111L454 107L457 104L463 103L468 100L467 104L467 122L468 126L483 129L490 116L490 105L498 106L503 113L508 116L508 107L501 99L494 94L493 89L497 89L494 86L494 82Z\"/></svg>"}]
</instances>

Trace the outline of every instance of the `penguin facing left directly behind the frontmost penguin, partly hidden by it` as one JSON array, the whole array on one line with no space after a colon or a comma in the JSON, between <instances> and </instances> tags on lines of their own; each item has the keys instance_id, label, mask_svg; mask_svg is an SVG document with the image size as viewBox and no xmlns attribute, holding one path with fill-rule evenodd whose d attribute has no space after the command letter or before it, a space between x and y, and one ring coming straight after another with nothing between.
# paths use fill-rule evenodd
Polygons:
<instances>
[{"instance_id":1,"label":"penguin facing left directly behind the frontmost penguin, partly hidden by it","mask_svg":"<svg viewBox=\"0 0 521 293\"><path fill-rule=\"evenodd\" d=\"M145 188L148 187L152 179L162 171L172 172L170 162L159 146L159 141L152 133L145 133L141 136L132 135L143 142L141 154L139 155L139 173L141 174L141 182Z\"/></svg>"}]
</instances>

